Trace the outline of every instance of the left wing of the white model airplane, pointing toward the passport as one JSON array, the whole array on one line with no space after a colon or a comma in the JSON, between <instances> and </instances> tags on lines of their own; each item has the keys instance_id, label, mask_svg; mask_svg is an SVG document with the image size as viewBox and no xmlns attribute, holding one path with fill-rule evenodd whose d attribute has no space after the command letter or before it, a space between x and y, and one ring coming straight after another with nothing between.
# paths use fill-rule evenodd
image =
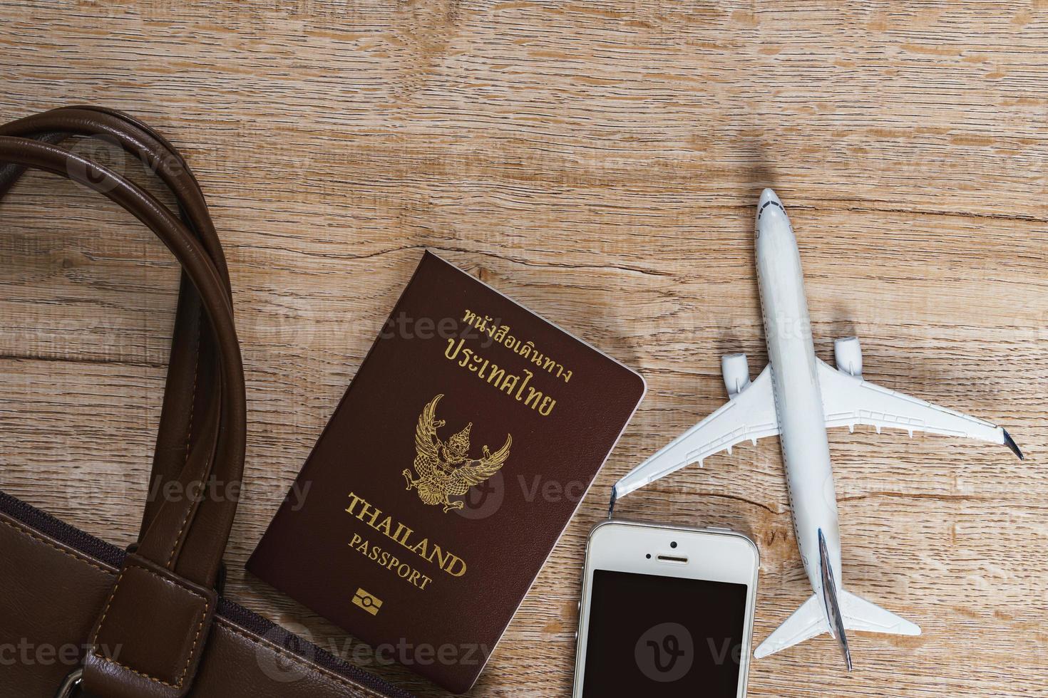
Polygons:
<instances>
[{"instance_id":1,"label":"left wing of the white model airplane, pointing toward the passport","mask_svg":"<svg viewBox=\"0 0 1048 698\"><path fill-rule=\"evenodd\" d=\"M702 461L744 441L757 443L779 433L779 415L771 391L771 367L765 366L752 383L720 409L670 442L615 483L614 498L625 497L684 466Z\"/></svg>"}]
</instances>

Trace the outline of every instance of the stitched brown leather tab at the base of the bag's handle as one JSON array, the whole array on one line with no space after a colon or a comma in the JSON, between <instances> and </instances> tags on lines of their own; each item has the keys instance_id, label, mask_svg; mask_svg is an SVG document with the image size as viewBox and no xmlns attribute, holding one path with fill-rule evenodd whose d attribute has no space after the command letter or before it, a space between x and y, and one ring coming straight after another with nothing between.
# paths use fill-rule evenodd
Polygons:
<instances>
[{"instance_id":1,"label":"stitched brown leather tab at the base of the bag's handle","mask_svg":"<svg viewBox=\"0 0 1048 698\"><path fill-rule=\"evenodd\" d=\"M181 698L218 603L214 589L129 555L91 632L84 689L107 698Z\"/></svg>"}]
</instances>

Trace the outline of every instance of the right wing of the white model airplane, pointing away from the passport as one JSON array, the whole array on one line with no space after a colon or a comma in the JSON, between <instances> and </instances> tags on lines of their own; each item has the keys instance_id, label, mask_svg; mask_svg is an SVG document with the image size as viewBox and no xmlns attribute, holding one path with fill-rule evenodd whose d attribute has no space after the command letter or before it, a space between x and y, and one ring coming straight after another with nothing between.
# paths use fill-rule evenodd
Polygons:
<instances>
[{"instance_id":1,"label":"right wing of the white model airplane, pointing away from the passport","mask_svg":"<svg viewBox=\"0 0 1048 698\"><path fill-rule=\"evenodd\" d=\"M860 376L837 370L824 361L818 362L818 385L823 391L823 409L826 426L848 427L856 424L877 428L926 431L946 436L964 436L991 444L1004 444L1020 458L1023 457L1008 432L990 424L930 402L889 390Z\"/></svg>"}]
</instances>

